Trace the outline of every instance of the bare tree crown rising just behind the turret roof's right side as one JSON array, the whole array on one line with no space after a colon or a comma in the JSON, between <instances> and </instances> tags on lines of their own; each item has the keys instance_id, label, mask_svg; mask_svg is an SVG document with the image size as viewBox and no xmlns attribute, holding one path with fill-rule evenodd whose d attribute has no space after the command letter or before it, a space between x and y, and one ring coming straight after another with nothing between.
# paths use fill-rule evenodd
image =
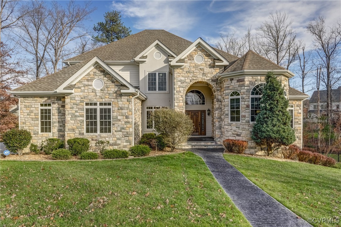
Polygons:
<instances>
[{"instance_id":1,"label":"bare tree crown rising just behind the turret roof's right side","mask_svg":"<svg viewBox=\"0 0 341 227\"><path fill-rule=\"evenodd\" d=\"M258 45L262 55L288 69L297 55L297 34L291 27L293 20L288 21L285 12L277 11L270 13L269 19L256 29Z\"/></svg>"}]
</instances>

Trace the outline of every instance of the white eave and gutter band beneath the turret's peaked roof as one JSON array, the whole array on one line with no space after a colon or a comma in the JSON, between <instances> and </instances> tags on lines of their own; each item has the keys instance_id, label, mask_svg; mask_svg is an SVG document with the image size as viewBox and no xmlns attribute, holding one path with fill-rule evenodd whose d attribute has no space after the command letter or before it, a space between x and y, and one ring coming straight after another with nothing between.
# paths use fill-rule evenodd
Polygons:
<instances>
[{"instance_id":1,"label":"white eave and gutter band beneath the turret's peaked roof","mask_svg":"<svg viewBox=\"0 0 341 227\"><path fill-rule=\"evenodd\" d=\"M246 75L266 75L268 71L273 71L275 75L283 75L287 78L292 78L295 76L291 71L289 70L240 70L240 71L235 71L235 72L227 72L227 73L222 73L218 76L218 80L222 81L224 79L229 79L229 78L235 78L235 77L243 77Z\"/></svg>"}]
</instances>

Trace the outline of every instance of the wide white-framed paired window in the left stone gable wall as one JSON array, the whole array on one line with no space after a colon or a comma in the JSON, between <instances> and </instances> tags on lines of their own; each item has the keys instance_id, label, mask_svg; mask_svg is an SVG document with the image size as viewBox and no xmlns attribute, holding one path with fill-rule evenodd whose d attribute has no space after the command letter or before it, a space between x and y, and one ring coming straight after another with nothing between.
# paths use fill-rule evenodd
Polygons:
<instances>
[{"instance_id":1,"label":"wide white-framed paired window in the left stone gable wall","mask_svg":"<svg viewBox=\"0 0 341 227\"><path fill-rule=\"evenodd\" d=\"M112 103L85 103L85 133L111 133Z\"/></svg>"}]
</instances>

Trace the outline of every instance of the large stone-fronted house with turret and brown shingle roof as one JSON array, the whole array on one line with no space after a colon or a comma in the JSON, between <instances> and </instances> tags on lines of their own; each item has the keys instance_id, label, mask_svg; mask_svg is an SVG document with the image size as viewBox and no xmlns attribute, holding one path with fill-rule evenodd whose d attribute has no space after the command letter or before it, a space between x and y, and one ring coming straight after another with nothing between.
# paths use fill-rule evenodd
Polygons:
<instances>
[{"instance_id":1,"label":"large stone-fronted house with turret and brown shingle roof","mask_svg":"<svg viewBox=\"0 0 341 227\"><path fill-rule=\"evenodd\" d=\"M275 72L302 143L302 100L288 80L294 74L248 51L241 58L202 38L194 43L164 30L144 30L63 62L68 67L11 91L20 97L21 129L33 143L50 137L108 140L128 149L153 131L150 114L174 108L190 115L193 136L247 140L260 112L265 75Z\"/></svg>"}]
</instances>

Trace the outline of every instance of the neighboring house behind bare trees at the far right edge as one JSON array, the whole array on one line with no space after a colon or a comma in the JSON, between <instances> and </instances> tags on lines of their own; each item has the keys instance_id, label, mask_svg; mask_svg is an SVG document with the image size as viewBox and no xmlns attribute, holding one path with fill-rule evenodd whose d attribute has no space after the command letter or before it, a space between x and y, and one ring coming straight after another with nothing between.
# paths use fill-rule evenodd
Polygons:
<instances>
[{"instance_id":1,"label":"neighboring house behind bare trees at the far right edge","mask_svg":"<svg viewBox=\"0 0 341 227\"><path fill-rule=\"evenodd\" d=\"M317 91L313 92L309 100L308 118L314 119L317 116ZM331 108L334 115L341 113L341 86L331 90ZM320 91L320 115L327 111L327 90Z\"/></svg>"}]
</instances>

